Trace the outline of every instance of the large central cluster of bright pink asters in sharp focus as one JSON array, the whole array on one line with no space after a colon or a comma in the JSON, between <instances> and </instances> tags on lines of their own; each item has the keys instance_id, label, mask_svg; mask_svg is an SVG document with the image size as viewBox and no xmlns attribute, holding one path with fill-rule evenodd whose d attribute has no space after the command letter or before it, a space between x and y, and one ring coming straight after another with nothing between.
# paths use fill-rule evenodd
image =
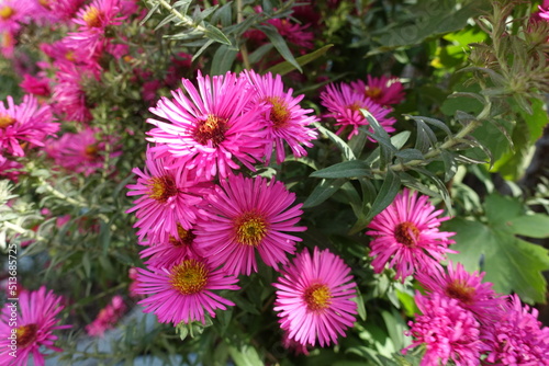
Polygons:
<instances>
[{"instance_id":1,"label":"large central cluster of bright pink asters in sharp focus","mask_svg":"<svg viewBox=\"0 0 549 366\"><path fill-rule=\"evenodd\" d=\"M237 290L238 275L258 271L257 256L279 271L276 311L289 346L336 343L352 325L356 296L350 268L328 251L305 250L291 261L301 238L295 195L274 179L247 178L287 157L306 155L317 136L311 110L303 110L280 76L240 75L183 79L183 89L150 108L154 146L146 169L135 169L138 196L128 210L137 217L146 268L133 291L160 322L205 321L234 302L216 290ZM292 309L301 309L295 313ZM343 313L343 316L340 314Z\"/></svg>"}]
</instances>

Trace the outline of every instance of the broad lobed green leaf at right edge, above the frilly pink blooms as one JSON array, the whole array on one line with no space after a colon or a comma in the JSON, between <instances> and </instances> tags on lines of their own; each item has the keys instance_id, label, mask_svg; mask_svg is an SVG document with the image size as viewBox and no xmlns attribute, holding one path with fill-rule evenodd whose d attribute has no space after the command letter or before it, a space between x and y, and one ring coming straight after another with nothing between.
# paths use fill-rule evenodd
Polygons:
<instances>
[{"instance_id":1,"label":"broad lobed green leaf at right edge, above the frilly pink blooms","mask_svg":"<svg viewBox=\"0 0 549 366\"><path fill-rule=\"evenodd\" d=\"M549 270L549 253L515 235L531 230L531 236L547 237L536 226L547 227L548 219L527 216L519 202L497 194L486 197L485 211L486 224L455 218L445 225L446 230L457 232L452 249L459 254L449 258L470 272L485 271L484 281L493 283L498 293L515 291L523 301L545 302L547 284L541 272Z\"/></svg>"}]
</instances>

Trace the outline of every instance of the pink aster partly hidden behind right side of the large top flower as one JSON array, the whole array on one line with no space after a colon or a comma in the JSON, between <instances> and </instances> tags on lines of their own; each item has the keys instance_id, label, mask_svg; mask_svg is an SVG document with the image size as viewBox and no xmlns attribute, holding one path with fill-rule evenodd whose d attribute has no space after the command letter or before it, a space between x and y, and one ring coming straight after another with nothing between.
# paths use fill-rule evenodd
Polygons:
<instances>
[{"instance_id":1,"label":"pink aster partly hidden behind right side of the large top flower","mask_svg":"<svg viewBox=\"0 0 549 366\"><path fill-rule=\"evenodd\" d=\"M316 122L316 116L307 115L313 110L303 110L300 101L305 96L303 94L293 98L292 89L284 92L284 85L280 75L276 77L272 73L260 76L254 71L246 71L251 84L256 89L256 101L265 102L269 108L261 115L262 123L267 128L267 140L265 156L267 162L276 151L277 163L284 161L284 141L290 146L295 157L306 156L303 148L312 147L311 140L316 139L317 133L309 127Z\"/></svg>"}]
</instances>

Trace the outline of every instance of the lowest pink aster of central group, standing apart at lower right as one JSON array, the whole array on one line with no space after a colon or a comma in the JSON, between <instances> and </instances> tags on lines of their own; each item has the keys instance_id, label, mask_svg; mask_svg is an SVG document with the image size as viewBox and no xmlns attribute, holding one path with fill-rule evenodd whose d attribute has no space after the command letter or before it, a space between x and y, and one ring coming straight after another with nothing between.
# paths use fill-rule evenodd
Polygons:
<instances>
[{"instance_id":1,"label":"lowest pink aster of central group, standing apart at lower right","mask_svg":"<svg viewBox=\"0 0 549 366\"><path fill-rule=\"evenodd\" d=\"M327 249L315 247L312 256L306 249L299 253L273 286L280 327L302 345L337 343L356 320L357 285L350 268Z\"/></svg>"}]
</instances>

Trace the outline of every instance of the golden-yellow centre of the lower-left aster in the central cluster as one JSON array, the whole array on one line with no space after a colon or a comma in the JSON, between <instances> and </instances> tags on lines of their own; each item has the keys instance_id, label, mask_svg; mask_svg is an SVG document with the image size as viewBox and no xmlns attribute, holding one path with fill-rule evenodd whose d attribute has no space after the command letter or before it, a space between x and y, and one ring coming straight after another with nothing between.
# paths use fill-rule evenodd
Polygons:
<instances>
[{"instance_id":1,"label":"golden-yellow centre of the lower-left aster in the central cluster","mask_svg":"<svg viewBox=\"0 0 549 366\"><path fill-rule=\"evenodd\" d=\"M209 271L204 263L186 260L170 271L170 284L182 295L198 294L208 284Z\"/></svg>"}]
</instances>

